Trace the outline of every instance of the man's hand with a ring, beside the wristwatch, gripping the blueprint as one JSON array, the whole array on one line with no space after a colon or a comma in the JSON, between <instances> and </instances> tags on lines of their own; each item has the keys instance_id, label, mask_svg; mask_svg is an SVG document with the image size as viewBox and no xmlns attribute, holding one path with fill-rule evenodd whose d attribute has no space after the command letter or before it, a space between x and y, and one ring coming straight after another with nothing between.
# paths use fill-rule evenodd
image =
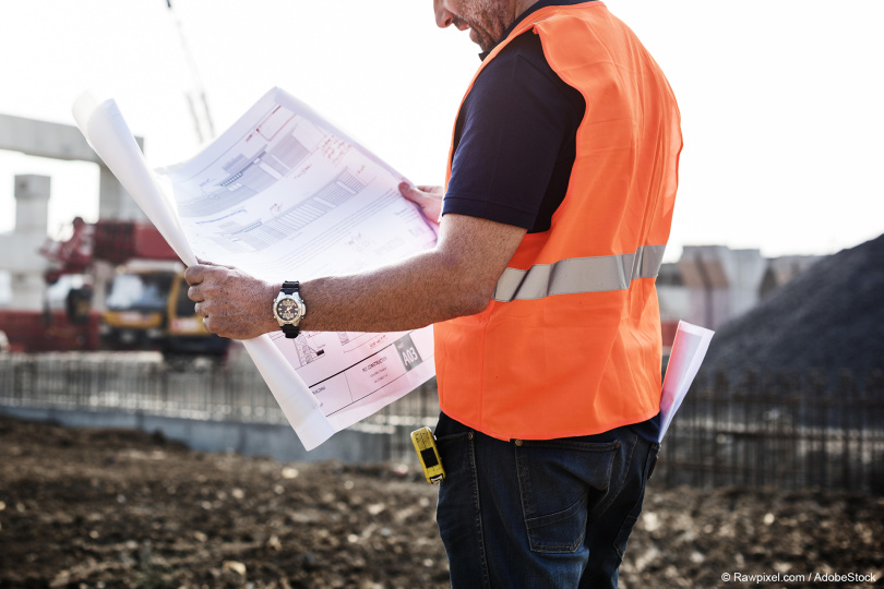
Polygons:
<instances>
[{"instance_id":1,"label":"man's hand with a ring, beside the wristwatch, gripping the blueprint","mask_svg":"<svg viewBox=\"0 0 884 589\"><path fill-rule=\"evenodd\" d=\"M200 261L184 273L188 297L205 328L222 337L251 339L279 327L273 300L279 285L259 280L230 266Z\"/></svg>"}]
</instances>

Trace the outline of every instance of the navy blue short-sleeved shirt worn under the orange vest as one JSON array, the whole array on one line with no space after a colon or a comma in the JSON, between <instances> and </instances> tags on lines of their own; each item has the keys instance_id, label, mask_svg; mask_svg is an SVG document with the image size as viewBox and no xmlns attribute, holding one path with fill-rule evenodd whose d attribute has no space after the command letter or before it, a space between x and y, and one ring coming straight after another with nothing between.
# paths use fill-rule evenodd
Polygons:
<instances>
[{"instance_id":1,"label":"navy blue short-sleeved shirt worn under the orange vest","mask_svg":"<svg viewBox=\"0 0 884 589\"><path fill-rule=\"evenodd\" d=\"M540 8L585 2L537 2L501 40ZM442 214L479 217L530 233L549 230L568 192L585 111L583 95L550 68L540 37L529 29L510 41L478 75L461 107ZM659 418L633 428L656 442Z\"/></svg>"}]
</instances>

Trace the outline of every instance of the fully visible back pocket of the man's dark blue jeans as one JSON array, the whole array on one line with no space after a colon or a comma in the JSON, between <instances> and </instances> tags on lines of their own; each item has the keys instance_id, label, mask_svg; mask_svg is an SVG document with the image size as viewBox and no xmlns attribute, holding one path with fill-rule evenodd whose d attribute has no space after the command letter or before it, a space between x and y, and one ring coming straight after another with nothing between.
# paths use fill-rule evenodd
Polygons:
<instances>
[{"instance_id":1,"label":"fully visible back pocket of the man's dark blue jeans","mask_svg":"<svg viewBox=\"0 0 884 589\"><path fill-rule=\"evenodd\" d=\"M515 445L525 528L531 551L571 553L583 543L588 514L605 503L620 442L525 441ZM614 481L613 486L618 486Z\"/></svg>"}]
</instances>

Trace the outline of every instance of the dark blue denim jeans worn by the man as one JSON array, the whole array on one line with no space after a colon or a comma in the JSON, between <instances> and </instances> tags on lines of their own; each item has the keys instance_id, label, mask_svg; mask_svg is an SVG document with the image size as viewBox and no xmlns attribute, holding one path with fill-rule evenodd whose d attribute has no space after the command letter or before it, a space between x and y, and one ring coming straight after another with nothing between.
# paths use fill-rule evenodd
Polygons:
<instances>
[{"instance_id":1,"label":"dark blue denim jeans worn by the man","mask_svg":"<svg viewBox=\"0 0 884 589\"><path fill-rule=\"evenodd\" d=\"M435 437L454 589L617 587L657 444L629 426L503 442L444 413Z\"/></svg>"}]
</instances>

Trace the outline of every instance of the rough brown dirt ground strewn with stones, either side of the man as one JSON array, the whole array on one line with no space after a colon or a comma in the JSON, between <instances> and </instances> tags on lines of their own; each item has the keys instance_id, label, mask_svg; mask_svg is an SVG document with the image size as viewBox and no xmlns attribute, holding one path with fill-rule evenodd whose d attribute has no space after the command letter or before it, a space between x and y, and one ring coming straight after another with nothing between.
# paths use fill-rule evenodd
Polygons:
<instances>
[{"instance_id":1,"label":"rough brown dirt ground strewn with stones, either side of the man","mask_svg":"<svg viewBox=\"0 0 884 589\"><path fill-rule=\"evenodd\" d=\"M653 484L621 587L884 584L882 497ZM445 587L434 505L416 464L280 464L0 416L0 588ZM875 581L814 577L851 573Z\"/></svg>"}]
</instances>

